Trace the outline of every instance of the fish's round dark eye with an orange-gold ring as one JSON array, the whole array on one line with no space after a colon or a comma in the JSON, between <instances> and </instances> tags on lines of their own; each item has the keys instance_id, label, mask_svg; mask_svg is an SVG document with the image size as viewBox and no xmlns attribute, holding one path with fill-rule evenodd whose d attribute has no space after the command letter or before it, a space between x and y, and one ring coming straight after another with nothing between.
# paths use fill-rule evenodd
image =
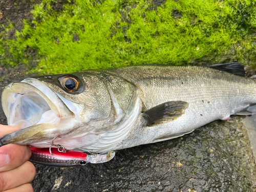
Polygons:
<instances>
[{"instance_id":1,"label":"fish's round dark eye with an orange-gold ring","mask_svg":"<svg viewBox=\"0 0 256 192\"><path fill-rule=\"evenodd\" d=\"M77 91L81 87L80 80L74 75L60 77L59 82L64 90L70 93Z\"/></svg>"}]
</instances>

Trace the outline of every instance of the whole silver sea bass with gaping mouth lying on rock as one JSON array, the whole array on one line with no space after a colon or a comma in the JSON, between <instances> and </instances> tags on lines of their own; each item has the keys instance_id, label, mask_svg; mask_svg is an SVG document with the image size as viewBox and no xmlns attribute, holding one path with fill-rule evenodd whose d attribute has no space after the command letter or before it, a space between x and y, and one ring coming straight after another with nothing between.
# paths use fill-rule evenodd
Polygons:
<instances>
[{"instance_id":1,"label":"whole silver sea bass with gaping mouth lying on rock","mask_svg":"<svg viewBox=\"0 0 256 192\"><path fill-rule=\"evenodd\" d=\"M208 67L131 66L27 78L2 94L1 138L78 152L108 152L164 141L230 115L255 113L256 81L239 63Z\"/></svg>"}]
</instances>

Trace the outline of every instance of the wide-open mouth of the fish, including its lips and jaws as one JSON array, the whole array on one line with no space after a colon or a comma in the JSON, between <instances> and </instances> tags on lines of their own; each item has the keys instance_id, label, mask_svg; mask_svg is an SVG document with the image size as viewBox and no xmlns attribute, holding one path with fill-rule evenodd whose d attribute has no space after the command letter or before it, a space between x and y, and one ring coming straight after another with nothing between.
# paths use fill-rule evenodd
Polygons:
<instances>
[{"instance_id":1,"label":"wide-open mouth of the fish, including its lips and jaws","mask_svg":"<svg viewBox=\"0 0 256 192\"><path fill-rule=\"evenodd\" d=\"M56 133L57 129L52 129L53 127L65 119L75 118L72 104L35 78L9 84L2 94L2 106L8 124L23 129L9 134L9 139L6 138L9 142L17 144L24 141L25 137L36 139L38 137L35 136L41 132L44 132L45 136ZM70 108L73 108L73 111Z\"/></svg>"}]
</instances>

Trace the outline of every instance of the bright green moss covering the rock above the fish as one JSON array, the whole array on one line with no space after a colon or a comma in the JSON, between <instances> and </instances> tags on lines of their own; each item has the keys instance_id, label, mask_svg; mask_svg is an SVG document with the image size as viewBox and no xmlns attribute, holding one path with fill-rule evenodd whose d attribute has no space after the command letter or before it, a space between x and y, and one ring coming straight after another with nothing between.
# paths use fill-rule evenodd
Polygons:
<instances>
[{"instance_id":1,"label":"bright green moss covering the rock above the fish","mask_svg":"<svg viewBox=\"0 0 256 192\"><path fill-rule=\"evenodd\" d=\"M145 0L76 0L55 11L44 0L32 11L32 24L1 34L0 61L29 63L26 51L40 58L32 72L67 73L163 63L183 65L239 61L254 67L255 1L168 0L161 7ZM176 17L175 14L178 14Z\"/></svg>"}]
</instances>

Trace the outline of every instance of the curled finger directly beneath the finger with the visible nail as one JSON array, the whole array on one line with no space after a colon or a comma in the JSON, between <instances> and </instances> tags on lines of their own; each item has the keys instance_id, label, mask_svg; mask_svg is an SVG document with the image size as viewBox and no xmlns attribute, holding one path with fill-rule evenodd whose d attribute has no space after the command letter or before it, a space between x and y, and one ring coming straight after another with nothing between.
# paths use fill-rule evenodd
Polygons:
<instances>
[{"instance_id":1,"label":"curled finger directly beneath the finger with the visible nail","mask_svg":"<svg viewBox=\"0 0 256 192\"><path fill-rule=\"evenodd\" d=\"M30 183L35 177L35 166L26 161L19 167L0 173L0 191Z\"/></svg>"}]
</instances>

